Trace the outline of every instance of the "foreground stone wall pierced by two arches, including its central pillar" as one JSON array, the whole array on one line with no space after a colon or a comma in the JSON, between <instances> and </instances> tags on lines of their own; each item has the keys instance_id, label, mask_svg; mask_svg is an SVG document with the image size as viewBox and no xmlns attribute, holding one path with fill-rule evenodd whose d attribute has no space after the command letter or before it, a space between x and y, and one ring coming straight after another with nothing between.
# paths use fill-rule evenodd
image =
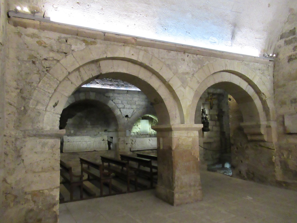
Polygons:
<instances>
[{"instance_id":1,"label":"foreground stone wall pierced by two arches, including its central pillar","mask_svg":"<svg viewBox=\"0 0 297 223\"><path fill-rule=\"evenodd\" d=\"M14 26L7 26L5 222L58 221L59 147L65 133L58 129L60 115L72 93L99 74L134 84L154 106L159 121L155 128L159 171L166 172L158 176L157 194L175 205L202 199L201 126L193 123L200 95L208 87L224 81L240 86L253 99L241 101L243 107L255 109L252 117L263 121L265 130L274 121L273 76L267 60L33 20L14 18L10 22ZM119 111L116 117L128 111L110 101L112 109ZM142 116L136 114L135 121ZM135 121L129 121L118 119L121 126L127 123L132 128ZM246 133L251 140L255 135L263 136L261 140L266 136L258 125L256 131ZM118 137L116 152L127 151L130 137L126 129L120 129ZM260 143L254 144L266 151ZM247 162L253 164L251 159Z\"/></svg>"}]
</instances>

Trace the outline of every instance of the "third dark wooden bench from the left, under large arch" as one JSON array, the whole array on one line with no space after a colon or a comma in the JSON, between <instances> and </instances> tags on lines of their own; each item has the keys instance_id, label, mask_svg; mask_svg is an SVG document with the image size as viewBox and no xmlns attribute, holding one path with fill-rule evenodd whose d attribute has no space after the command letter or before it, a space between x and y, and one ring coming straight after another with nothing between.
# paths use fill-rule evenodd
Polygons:
<instances>
[{"instance_id":1,"label":"third dark wooden bench from the left, under large arch","mask_svg":"<svg viewBox=\"0 0 297 223\"><path fill-rule=\"evenodd\" d=\"M130 191L130 180L134 179L135 190L137 191L137 176L135 174L135 169L131 169L128 162L106 156L101 156L101 161L104 170L112 172L116 176L127 180L127 191Z\"/></svg>"}]
</instances>

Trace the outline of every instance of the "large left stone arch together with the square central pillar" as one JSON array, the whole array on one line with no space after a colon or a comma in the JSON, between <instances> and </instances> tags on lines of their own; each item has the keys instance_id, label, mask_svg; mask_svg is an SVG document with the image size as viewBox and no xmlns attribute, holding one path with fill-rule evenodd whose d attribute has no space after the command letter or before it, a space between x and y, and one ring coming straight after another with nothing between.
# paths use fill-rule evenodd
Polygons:
<instances>
[{"instance_id":1,"label":"large left stone arch together with the square central pillar","mask_svg":"<svg viewBox=\"0 0 297 223\"><path fill-rule=\"evenodd\" d=\"M195 164L190 173L190 175L198 176L195 177L195 183L188 184L183 181L182 184L174 186L181 175L187 174L187 172L181 171L179 168L175 172L175 177L172 177L174 169L177 168L173 162L193 161L189 159L189 161L175 160L173 157L182 157L180 156L181 153L187 152L193 159L199 159L199 153L189 153L188 151L197 144L195 140L198 142L198 135L193 134L190 141L182 135L187 134L189 131L197 131L199 126L184 125L181 102L173 90L176 87L174 83L172 85L167 82L174 79L173 73L157 58L141 50L123 46L122 51L118 51L117 47L114 54L107 55L106 52L111 52L111 49L109 48L110 51L105 52L105 50L102 50L104 47L106 46L96 46L74 52L58 62L47 76L40 81L30 106L33 110L37 108L45 111L41 114L44 117L42 118L42 129L56 131L59 128L60 115L68 98L81 85L94 78L116 78L127 81L147 95L159 119L159 124L155 127L158 132L158 147L160 148L158 153L162 157L158 161L158 167L160 167L157 187L158 197L172 204L201 200L198 165ZM123 52L125 52L125 55ZM49 82L51 79L58 81ZM40 92L43 91L44 85L47 83L50 83L47 86L47 93L41 96ZM178 83L178 79L175 79L175 83ZM182 134L177 134L179 132ZM59 131L59 134L63 134L62 131ZM125 137L125 129L119 129L119 152L126 149ZM184 145L187 145L187 150L184 149ZM181 147L183 147L183 150L172 152L173 149L177 150ZM183 166L183 168L186 167ZM58 178L58 175L55 176ZM191 193L195 194L195 196L188 196L187 194L190 194L190 192L185 193L185 190L194 191ZM184 195L186 195L187 200L184 199Z\"/></svg>"}]
</instances>

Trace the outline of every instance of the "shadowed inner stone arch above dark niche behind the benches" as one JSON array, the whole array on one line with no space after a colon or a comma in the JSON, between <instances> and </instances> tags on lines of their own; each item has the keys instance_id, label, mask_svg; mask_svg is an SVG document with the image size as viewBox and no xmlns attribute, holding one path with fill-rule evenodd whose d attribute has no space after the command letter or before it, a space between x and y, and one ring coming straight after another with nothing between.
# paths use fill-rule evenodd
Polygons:
<instances>
[{"instance_id":1,"label":"shadowed inner stone arch above dark niche behind the benches","mask_svg":"<svg viewBox=\"0 0 297 223\"><path fill-rule=\"evenodd\" d=\"M77 94L77 95L75 95ZM112 111L112 113L114 114L114 116L116 117L116 122L118 125L118 128L124 128L125 123L123 120L123 116L122 113L120 111L120 109L118 108L118 106L116 106L116 104L111 101L109 98L105 97L104 95L101 95L97 92L79 92L79 93L74 93L72 95L70 95L70 97L68 98L64 109L67 108L69 105L78 102L78 101L83 101L83 100L95 100L95 101L99 101L105 105L107 105L110 110Z\"/></svg>"}]
</instances>

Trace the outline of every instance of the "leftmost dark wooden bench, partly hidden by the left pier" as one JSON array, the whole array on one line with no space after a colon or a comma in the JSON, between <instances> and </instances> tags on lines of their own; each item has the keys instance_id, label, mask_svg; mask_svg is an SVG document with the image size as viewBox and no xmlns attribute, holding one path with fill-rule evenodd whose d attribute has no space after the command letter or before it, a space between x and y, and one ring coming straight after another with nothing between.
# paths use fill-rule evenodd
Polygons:
<instances>
[{"instance_id":1,"label":"leftmost dark wooden bench, partly hidden by the left pier","mask_svg":"<svg viewBox=\"0 0 297 223\"><path fill-rule=\"evenodd\" d=\"M60 160L60 175L65 183L70 185L70 200L73 200L73 189L76 186L80 187L80 199L83 199L83 175L74 175L72 167L62 160Z\"/></svg>"}]
</instances>

